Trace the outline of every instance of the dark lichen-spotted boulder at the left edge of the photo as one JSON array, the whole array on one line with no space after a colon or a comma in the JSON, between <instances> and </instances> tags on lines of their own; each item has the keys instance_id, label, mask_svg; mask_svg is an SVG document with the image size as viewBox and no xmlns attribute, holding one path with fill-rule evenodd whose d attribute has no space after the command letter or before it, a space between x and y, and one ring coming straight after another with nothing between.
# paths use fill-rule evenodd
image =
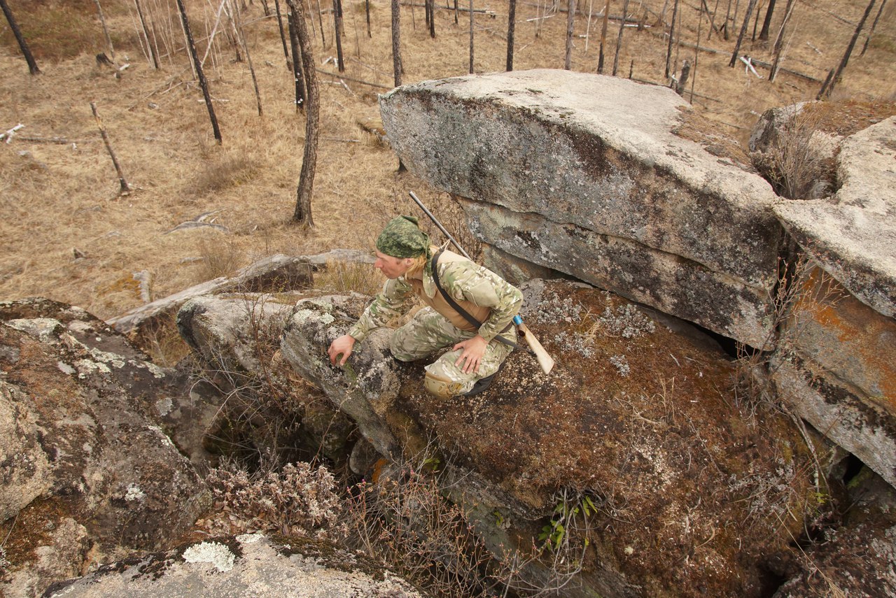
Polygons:
<instances>
[{"instance_id":1,"label":"dark lichen-spotted boulder at the left edge of the photo","mask_svg":"<svg viewBox=\"0 0 896 598\"><path fill-rule=\"evenodd\" d=\"M0 591L40 594L116 547L159 549L206 504L194 467L162 431L158 404L180 392L80 308L0 303Z\"/></svg>"}]
</instances>

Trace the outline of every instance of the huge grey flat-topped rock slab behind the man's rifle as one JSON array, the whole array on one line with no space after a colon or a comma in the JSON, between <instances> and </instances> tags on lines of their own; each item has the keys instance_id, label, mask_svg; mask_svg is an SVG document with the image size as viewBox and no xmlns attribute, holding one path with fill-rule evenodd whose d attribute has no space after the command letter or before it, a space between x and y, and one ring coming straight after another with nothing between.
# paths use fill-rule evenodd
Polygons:
<instances>
[{"instance_id":1,"label":"huge grey flat-topped rock slab behind the man's rifle","mask_svg":"<svg viewBox=\"0 0 896 598\"><path fill-rule=\"evenodd\" d=\"M392 148L409 171L478 202L480 211L499 206L530 228L577 227L668 254L664 262L678 261L683 284L706 270L730 279L735 293L753 287L761 299L734 313L730 304L713 307L707 290L710 312L694 321L759 346L770 326L760 314L783 235L771 211L777 198L759 175L685 138L698 137L683 131L691 120L686 106L665 88L555 70L423 81L380 99ZM525 241L493 239L478 227L478 215L471 219L474 234L505 252ZM545 246L525 259L594 284L615 278L613 288L633 298L625 291L631 279L609 271L581 275L565 260L568 251L596 252L587 240ZM638 300L659 307L649 295L666 292L665 285L650 288Z\"/></svg>"}]
</instances>

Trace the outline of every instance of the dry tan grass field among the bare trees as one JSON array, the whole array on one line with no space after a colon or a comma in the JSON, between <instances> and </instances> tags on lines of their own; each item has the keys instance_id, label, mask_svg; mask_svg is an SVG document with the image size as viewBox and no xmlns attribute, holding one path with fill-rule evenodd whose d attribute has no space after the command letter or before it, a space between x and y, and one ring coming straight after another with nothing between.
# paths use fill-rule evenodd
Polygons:
<instances>
[{"instance_id":1,"label":"dry tan grass field among the bare trees","mask_svg":"<svg viewBox=\"0 0 896 598\"><path fill-rule=\"evenodd\" d=\"M372 0L368 37L363 0L344 2L346 79L318 73L322 103L315 226L304 230L290 223L304 115L297 113L293 102L292 75L276 18L264 16L261 0L247 4L242 19L263 115L257 112L246 61L235 60L233 48L221 34L224 26L208 51L205 69L223 136L220 145L212 137L179 25L168 18L176 15L174 2L142 0L154 11L163 52L156 70L138 41L133 0L100 0L116 62L129 64L116 77L112 68L97 64L94 58L99 52L109 53L94 2L8 0L42 73L29 74L3 21L0 129L24 127L11 142L0 143L0 299L42 295L109 318L143 302L134 273L148 272L152 296L160 297L274 252L368 248L386 219L410 209L408 190L435 201L433 189L407 173L396 173L397 159L391 150L359 125L375 121L376 94L392 87L389 4ZM186 4L203 54L220 0L188 0ZM274 0L268 4L273 13ZM474 4L487 11L475 13L475 71L502 71L508 4L504 0L475 0ZM588 13L599 13L603 4L599 0L579 4L573 70L594 72L597 67L600 21L597 17L589 21ZM628 76L631 70L636 79L664 82L668 42L662 23L670 21L671 4L662 0L628 3L629 13L643 16L650 27L625 30L620 76ZM685 58L694 62L698 4L696 0L681 3L682 43L673 49L676 64ZM710 0L708 4L719 7L719 21L727 3ZM746 3L739 4L743 13ZM786 3L779 0L779 4L772 21L775 32ZM622 6L621 0L613 0L610 14L621 14ZM707 40L709 24L704 19L700 45L719 53L704 51L697 57L694 107L716 122L720 133L745 143L749 128L764 109L814 99L820 81L840 62L865 8L865 0L797 2L782 65L817 81L780 73L770 83L766 69L759 69L763 77L759 78L743 64L729 68L734 37L726 41L713 34ZM530 21L546 11L550 13L549 4L520 1L515 69L563 68L565 13ZM876 13L875 5L866 30ZM859 38L832 96L857 102L855 111L860 116L869 109L865 103L896 98L893 13L893 4L887 4L865 56L859 52L866 36ZM332 11L324 4L318 19L315 4L313 14L314 58L320 69L334 73ZM424 27L422 4L402 6L405 83L468 73L469 14L460 13L455 24L455 13L442 2L435 17L432 39ZM618 30L619 22L609 21L605 73L612 69ZM771 43L751 41L752 30L751 21L742 53L771 62ZM691 98L690 94L685 98ZM134 187L125 196L117 195L116 172L91 115L91 101L98 107L125 178ZM171 232L199 218L220 226Z\"/></svg>"}]
</instances>

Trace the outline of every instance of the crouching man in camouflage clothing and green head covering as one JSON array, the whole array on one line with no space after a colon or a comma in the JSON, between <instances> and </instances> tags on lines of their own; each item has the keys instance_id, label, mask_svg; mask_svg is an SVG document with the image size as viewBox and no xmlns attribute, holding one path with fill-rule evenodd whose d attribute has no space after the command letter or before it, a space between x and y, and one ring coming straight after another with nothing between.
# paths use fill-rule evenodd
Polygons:
<instances>
[{"instance_id":1,"label":"crouching man in camouflage clothing and green head covering","mask_svg":"<svg viewBox=\"0 0 896 598\"><path fill-rule=\"evenodd\" d=\"M465 319L436 288L434 256L444 292L481 322L480 326ZM376 239L374 267L388 278L383 292L348 334L332 341L327 351L331 363L344 365L356 342L407 312L418 298L426 307L392 333L392 355L409 362L450 346L450 351L426 365L426 390L439 397L453 397L486 389L513 351L513 346L497 337L516 340L513 316L522 304L520 290L491 270L432 246L412 216L392 218L385 226Z\"/></svg>"}]
</instances>

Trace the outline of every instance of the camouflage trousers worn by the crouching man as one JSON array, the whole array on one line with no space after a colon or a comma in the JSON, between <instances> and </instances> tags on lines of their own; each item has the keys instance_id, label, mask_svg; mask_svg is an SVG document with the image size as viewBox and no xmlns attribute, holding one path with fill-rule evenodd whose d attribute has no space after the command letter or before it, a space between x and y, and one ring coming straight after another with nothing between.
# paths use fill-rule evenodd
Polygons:
<instances>
[{"instance_id":1,"label":"camouflage trousers worn by the crouching man","mask_svg":"<svg viewBox=\"0 0 896 598\"><path fill-rule=\"evenodd\" d=\"M502 336L515 342L515 332L512 327L502 333ZM424 307L407 324L392 333L389 348L395 359L401 362L412 362L475 336L475 332L457 328L433 308ZM511 351L513 351L512 346L504 345L504 343L493 339L486 346L486 353L482 355L482 360L479 362L478 372L465 373L461 369L463 363L454 365L454 362L463 353L462 349L444 353L435 362L426 366L426 372L436 378L457 382L458 390L455 394L462 395L470 391L477 380L497 372Z\"/></svg>"}]
</instances>

